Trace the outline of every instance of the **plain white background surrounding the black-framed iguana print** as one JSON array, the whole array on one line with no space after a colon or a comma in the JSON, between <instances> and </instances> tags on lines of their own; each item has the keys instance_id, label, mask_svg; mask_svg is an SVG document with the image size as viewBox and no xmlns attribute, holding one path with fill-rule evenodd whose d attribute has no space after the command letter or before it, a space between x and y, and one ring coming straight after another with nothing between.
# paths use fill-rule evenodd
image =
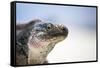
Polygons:
<instances>
[{"instance_id":1,"label":"plain white background surrounding the black-framed iguana print","mask_svg":"<svg viewBox=\"0 0 100 68\"><path fill-rule=\"evenodd\" d=\"M12 68L10 66L10 2L12 0L1 0L0 2L0 68ZM27 1L27 0L24 0ZM33 0L29 0L33 1ZM65 3L79 5L97 5L100 7L100 0L34 0L34 2ZM100 8L98 8L98 12ZM98 16L100 14L98 13ZM98 18L99 19L99 18ZM98 26L100 26L98 20ZM100 28L100 27L99 27ZM98 29L99 29L98 28ZM98 34L100 31L98 30ZM99 37L99 36L98 36ZM100 37L99 37L100 38ZM98 40L99 42L100 40ZM99 44L98 44L99 45ZM99 50L99 47L98 47ZM100 51L100 50L99 50ZM100 62L77 63L48 66L30 66L26 68L99 68Z\"/></svg>"}]
</instances>

